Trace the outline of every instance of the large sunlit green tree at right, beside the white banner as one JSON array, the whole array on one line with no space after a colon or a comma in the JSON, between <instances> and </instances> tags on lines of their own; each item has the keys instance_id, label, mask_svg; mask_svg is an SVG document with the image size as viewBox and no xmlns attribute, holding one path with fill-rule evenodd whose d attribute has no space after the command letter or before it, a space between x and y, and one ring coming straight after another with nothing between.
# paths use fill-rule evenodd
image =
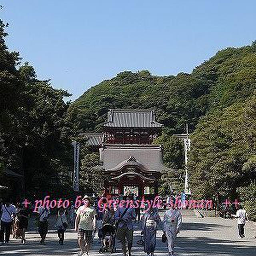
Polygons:
<instances>
[{"instance_id":1,"label":"large sunlit green tree at right, beside the white banner","mask_svg":"<svg viewBox=\"0 0 256 256\"><path fill-rule=\"evenodd\" d=\"M192 136L190 177L193 192L236 197L255 179L256 96L206 115Z\"/></svg>"}]
</instances>

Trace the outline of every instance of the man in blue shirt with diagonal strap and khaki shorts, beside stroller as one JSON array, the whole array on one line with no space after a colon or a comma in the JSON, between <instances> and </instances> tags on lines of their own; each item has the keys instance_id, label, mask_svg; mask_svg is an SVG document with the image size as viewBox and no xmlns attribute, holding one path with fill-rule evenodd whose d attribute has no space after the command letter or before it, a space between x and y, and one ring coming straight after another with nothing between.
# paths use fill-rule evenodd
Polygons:
<instances>
[{"instance_id":1,"label":"man in blue shirt with diagonal strap and khaki shorts, beside stroller","mask_svg":"<svg viewBox=\"0 0 256 256\"><path fill-rule=\"evenodd\" d=\"M124 196L126 202L131 201L131 197ZM132 241L133 241L133 220L136 220L136 213L134 208L128 207L119 207L116 210L115 220L117 222L117 232L116 238L122 244L123 255L127 256L126 251L126 240L128 242L128 254L131 256L132 250Z\"/></svg>"}]
</instances>

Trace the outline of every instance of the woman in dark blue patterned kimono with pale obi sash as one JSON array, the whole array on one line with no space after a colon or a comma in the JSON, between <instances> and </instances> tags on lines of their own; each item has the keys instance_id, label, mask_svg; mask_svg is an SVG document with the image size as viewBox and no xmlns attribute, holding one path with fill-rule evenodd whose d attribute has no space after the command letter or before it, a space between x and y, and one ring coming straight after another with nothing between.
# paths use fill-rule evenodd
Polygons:
<instances>
[{"instance_id":1,"label":"woman in dark blue patterned kimono with pale obi sash","mask_svg":"<svg viewBox=\"0 0 256 256\"><path fill-rule=\"evenodd\" d=\"M157 208L149 208L142 216L141 221L144 252L146 252L148 256L153 256L156 248L156 228L162 223Z\"/></svg>"}]
</instances>

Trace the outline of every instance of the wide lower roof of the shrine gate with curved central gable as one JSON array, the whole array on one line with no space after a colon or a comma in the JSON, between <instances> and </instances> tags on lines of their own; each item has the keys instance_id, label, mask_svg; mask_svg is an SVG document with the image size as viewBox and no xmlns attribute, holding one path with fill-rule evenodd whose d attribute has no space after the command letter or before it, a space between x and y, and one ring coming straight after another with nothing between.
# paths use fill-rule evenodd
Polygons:
<instances>
[{"instance_id":1,"label":"wide lower roof of the shrine gate with curved central gable","mask_svg":"<svg viewBox=\"0 0 256 256\"><path fill-rule=\"evenodd\" d=\"M144 171L161 172L164 170L162 147L160 145L106 144L100 148L103 168L119 170L123 166L143 166Z\"/></svg>"}]
</instances>

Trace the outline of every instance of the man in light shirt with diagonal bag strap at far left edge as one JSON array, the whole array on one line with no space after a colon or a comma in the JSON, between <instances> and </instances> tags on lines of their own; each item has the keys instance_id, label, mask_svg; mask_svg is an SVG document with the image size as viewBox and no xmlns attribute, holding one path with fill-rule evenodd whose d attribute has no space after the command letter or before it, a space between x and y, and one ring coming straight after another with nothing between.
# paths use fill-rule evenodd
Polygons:
<instances>
[{"instance_id":1,"label":"man in light shirt with diagonal bag strap at far left edge","mask_svg":"<svg viewBox=\"0 0 256 256\"><path fill-rule=\"evenodd\" d=\"M10 231L12 226L12 220L16 215L16 208L14 205L10 204L9 200L1 207L1 230L0 230L0 244L7 244L10 240ZM5 233L5 240L4 240Z\"/></svg>"}]
</instances>

